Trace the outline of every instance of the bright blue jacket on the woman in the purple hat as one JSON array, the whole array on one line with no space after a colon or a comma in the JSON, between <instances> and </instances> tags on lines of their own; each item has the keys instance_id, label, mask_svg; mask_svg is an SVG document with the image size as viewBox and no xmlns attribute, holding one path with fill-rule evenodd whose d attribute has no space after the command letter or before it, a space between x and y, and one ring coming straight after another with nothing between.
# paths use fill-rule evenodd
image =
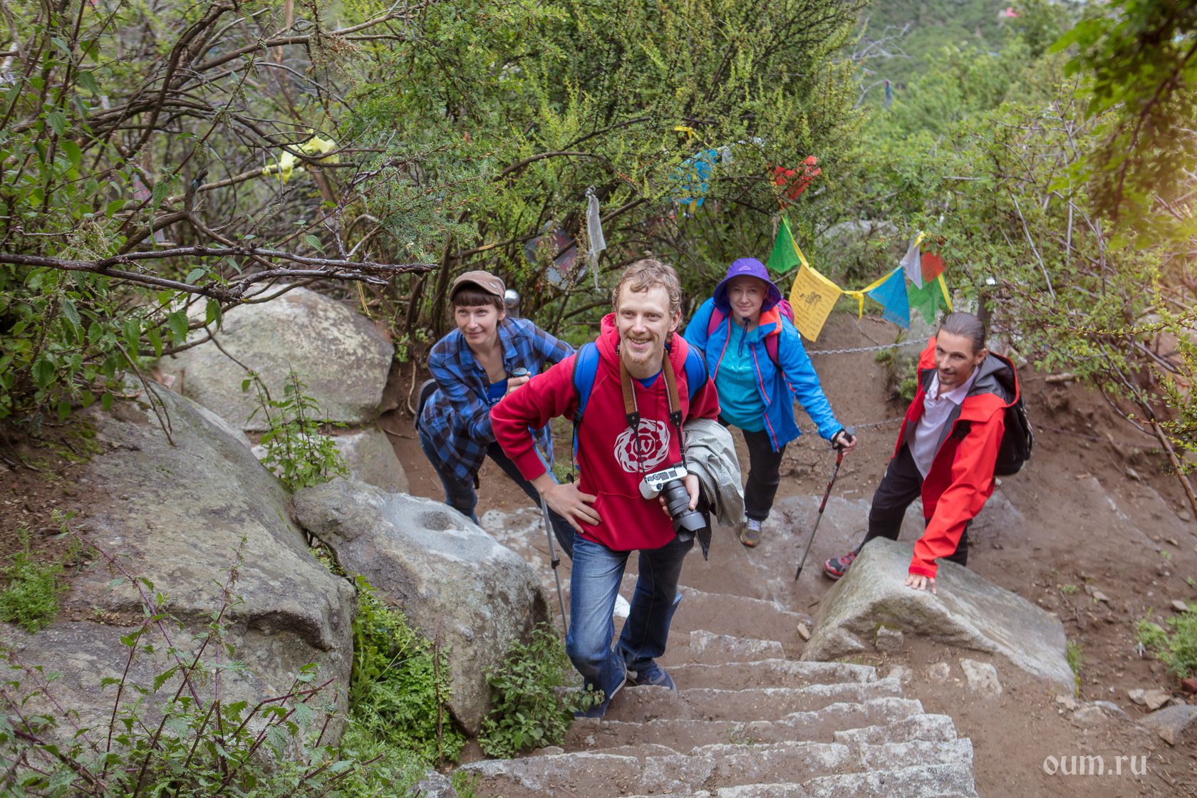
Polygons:
<instances>
[{"instance_id":1,"label":"bright blue jacket on the woman in the purple hat","mask_svg":"<svg viewBox=\"0 0 1197 798\"><path fill-rule=\"evenodd\" d=\"M719 363L723 360L731 324L735 322L729 313L707 336L706 328L713 309L715 299L704 301L686 325L683 337L687 343L698 347L706 355L706 368L722 397L724 386L719 384ZM780 339L777 342L780 368L773 365L765 347L765 337L773 333L778 324L782 325L778 333ZM819 376L802 346L802 336L790 319L776 310L761 313L760 337L755 343L748 342L747 346L752 347L760 398L765 403L765 432L773 444L773 451L780 451L782 446L802 434L794 419L794 398L802 403L807 415L818 425L819 434L826 440L831 440L844 428L831 412L831 404L827 403L827 397L819 385Z\"/></svg>"}]
</instances>

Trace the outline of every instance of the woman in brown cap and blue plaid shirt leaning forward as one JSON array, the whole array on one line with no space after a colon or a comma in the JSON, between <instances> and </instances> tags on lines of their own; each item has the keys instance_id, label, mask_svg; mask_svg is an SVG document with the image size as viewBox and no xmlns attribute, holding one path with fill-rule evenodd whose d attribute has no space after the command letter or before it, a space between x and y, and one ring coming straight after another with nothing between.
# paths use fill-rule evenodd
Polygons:
<instances>
[{"instance_id":1,"label":"woman in brown cap and blue plaid shirt leaning forward","mask_svg":"<svg viewBox=\"0 0 1197 798\"><path fill-rule=\"evenodd\" d=\"M540 373L545 361L560 363L573 347L523 318L506 318L503 280L490 272L467 272L454 280L449 304L457 329L432 347L429 371L437 390L419 418L420 447L445 488L445 504L478 523L478 469L487 456L540 504L540 493L494 443L491 408ZM518 370L525 374L512 376ZM547 426L534 432L547 464L553 438ZM549 512L553 531L573 558L573 528Z\"/></svg>"}]
</instances>

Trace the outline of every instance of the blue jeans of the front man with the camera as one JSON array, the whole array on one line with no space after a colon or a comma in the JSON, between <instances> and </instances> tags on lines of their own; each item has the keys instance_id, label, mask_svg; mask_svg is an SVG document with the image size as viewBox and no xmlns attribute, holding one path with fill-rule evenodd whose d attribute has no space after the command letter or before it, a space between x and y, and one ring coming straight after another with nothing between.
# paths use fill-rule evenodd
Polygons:
<instances>
[{"instance_id":1,"label":"blue jeans of the front man with the camera","mask_svg":"<svg viewBox=\"0 0 1197 798\"><path fill-rule=\"evenodd\" d=\"M602 690L607 696L588 717L598 718L607 711L610 693L624 681L625 669L640 670L666 652L669 622L678 609L674 598L681 564L693 546L693 538L683 543L675 537L660 549L640 552L632 611L613 651L612 611L631 552L615 552L581 536L573 540L565 650L587 688Z\"/></svg>"}]
</instances>

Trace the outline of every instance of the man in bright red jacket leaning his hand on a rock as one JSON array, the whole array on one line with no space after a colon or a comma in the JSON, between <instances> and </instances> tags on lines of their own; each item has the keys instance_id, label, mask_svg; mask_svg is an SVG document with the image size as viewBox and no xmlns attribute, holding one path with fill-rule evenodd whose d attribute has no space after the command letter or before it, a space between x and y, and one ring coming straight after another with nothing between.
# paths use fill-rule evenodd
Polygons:
<instances>
[{"instance_id":1,"label":"man in bright red jacket leaning his hand on a rock","mask_svg":"<svg viewBox=\"0 0 1197 798\"><path fill-rule=\"evenodd\" d=\"M985 348L980 319L946 316L919 355L918 392L873 495L869 531L855 552L824 562L824 573L843 577L874 537L898 540L906 507L920 497L926 531L915 543L906 586L934 593L936 558L966 565L968 526L994 493L1005 408L1017 398L1014 364Z\"/></svg>"}]
</instances>

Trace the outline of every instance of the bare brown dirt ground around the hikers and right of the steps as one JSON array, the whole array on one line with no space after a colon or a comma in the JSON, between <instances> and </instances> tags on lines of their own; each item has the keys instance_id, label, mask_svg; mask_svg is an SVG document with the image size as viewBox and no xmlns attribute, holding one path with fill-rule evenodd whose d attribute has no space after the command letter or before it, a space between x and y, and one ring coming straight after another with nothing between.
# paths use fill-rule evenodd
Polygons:
<instances>
[{"instance_id":1,"label":"bare brown dirt ground around the hikers and right of the steps","mask_svg":"<svg viewBox=\"0 0 1197 798\"><path fill-rule=\"evenodd\" d=\"M897 328L879 319L865 318L858 324L838 315L809 348L887 343L895 333ZM874 353L816 354L813 361L841 421L862 425L904 414L905 403L888 401L886 371ZM1175 599L1197 603L1197 587L1186 584L1186 579L1197 579L1197 525L1186 519L1177 480L1161 471L1163 458L1153 453L1154 439L1119 418L1100 395L1075 384L1047 383L1031 367L1023 367L1021 377L1037 430L1034 457L1021 474L1002 480L999 491L1013 513L995 512L992 523L976 530L968 565L1055 611L1069 640L1081 646L1081 700L1112 701L1129 720L1078 725L1053 693L1008 663L998 663L1007 688L1002 699L976 699L962 681L952 681L962 677L960 658L988 659L976 652L915 641L895 657L865 662L882 674L893 664L909 666L913 677L906 695L922 700L928 712L950 714L960 736L972 738L982 796L1197 794L1197 750L1192 745L1171 748L1154 735L1136 731L1132 720L1146 714L1146 708L1128 698L1128 690L1135 688L1175 687L1159 663L1140 656L1134 623L1149 609L1156 617L1172 614ZM803 428L813 426L801 413L798 419ZM439 482L420 452L409 420L406 425L401 433L408 437L391 440L407 468L412 492L440 498ZM863 536L863 524L847 523L859 513L849 511L857 502L867 506L871 499L897 431L895 424L861 431L861 445L845 459L836 483L833 495L840 501L828 504L812 550L814 562L797 585L785 574L792 574L798 547L814 518L815 500L809 497L822 493L833 462L826 443L814 434L803 435L786 451L778 499L792 501L779 501L778 510L786 511L774 511L765 543L748 552L729 530L717 530L711 560L687 558L682 583L709 592L776 599L789 610L814 613L831 585L815 564L841 554ZM566 452L569 430L563 425L558 432L558 452ZM747 469L747 458L742 464ZM490 463L481 481L480 513L511 512L530 504ZM528 536L528 546L545 548L535 532ZM567 564L563 579L567 584ZM1095 599L1089 595L1093 591L1108 601ZM791 645L801 651L800 641L785 642L786 656ZM936 662L953 666L948 682L931 682L926 675ZM1111 762L1119 755L1148 756L1148 773L1129 775L1125 761L1122 775L1045 773L1047 756L1065 755L1101 755Z\"/></svg>"}]
</instances>

